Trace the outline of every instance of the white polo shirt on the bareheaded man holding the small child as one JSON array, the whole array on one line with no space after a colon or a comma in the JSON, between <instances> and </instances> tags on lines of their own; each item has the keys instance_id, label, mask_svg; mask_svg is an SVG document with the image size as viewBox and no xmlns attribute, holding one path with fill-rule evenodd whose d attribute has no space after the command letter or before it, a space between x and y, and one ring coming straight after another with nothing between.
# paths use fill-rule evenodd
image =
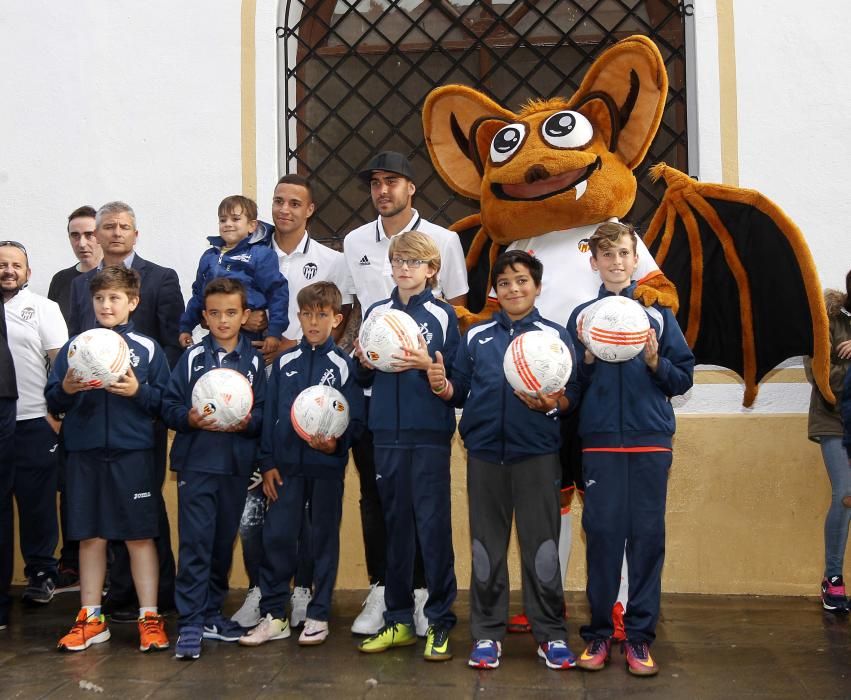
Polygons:
<instances>
[{"instance_id":1,"label":"white polo shirt on the bareheaded man holding the small child","mask_svg":"<svg viewBox=\"0 0 851 700\"><path fill-rule=\"evenodd\" d=\"M274 235L271 247L278 256L278 269L287 280L290 295L287 311L290 325L284 333L285 338L299 340L302 336L301 323L298 320L298 293L308 284L333 282L343 295L343 304L352 303L352 295L349 292L352 283L341 252L314 241L307 231L289 255L278 247Z\"/></svg>"}]
</instances>

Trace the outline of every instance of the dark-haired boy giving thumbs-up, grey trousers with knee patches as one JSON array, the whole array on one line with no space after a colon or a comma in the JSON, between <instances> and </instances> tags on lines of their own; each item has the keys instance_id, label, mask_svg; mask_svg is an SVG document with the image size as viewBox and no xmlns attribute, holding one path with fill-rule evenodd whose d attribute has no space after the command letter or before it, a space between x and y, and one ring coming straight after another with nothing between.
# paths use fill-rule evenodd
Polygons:
<instances>
[{"instance_id":1,"label":"dark-haired boy giving thumbs-up, grey trousers with knee patches","mask_svg":"<svg viewBox=\"0 0 851 700\"><path fill-rule=\"evenodd\" d=\"M440 363L429 371L433 390L464 407L459 429L467 448L474 639L468 663L473 668L499 666L508 621L512 515L520 541L523 601L538 655L553 669L576 663L567 646L558 559L559 416L571 410L579 395L575 372L565 389L529 396L514 391L502 371L511 341L527 331L552 333L571 347L564 328L535 308L542 276L543 265L528 253L500 255L491 271L500 311L467 331L450 379Z\"/></svg>"}]
</instances>

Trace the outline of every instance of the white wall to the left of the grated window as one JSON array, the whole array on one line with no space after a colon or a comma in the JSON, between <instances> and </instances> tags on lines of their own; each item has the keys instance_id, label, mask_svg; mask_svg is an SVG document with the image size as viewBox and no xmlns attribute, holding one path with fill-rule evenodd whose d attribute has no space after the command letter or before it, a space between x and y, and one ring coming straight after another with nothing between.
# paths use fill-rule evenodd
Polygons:
<instances>
[{"instance_id":1,"label":"white wall to the left of the grated window","mask_svg":"<svg viewBox=\"0 0 851 700\"><path fill-rule=\"evenodd\" d=\"M272 60L273 22L258 42ZM188 291L219 201L242 190L240 46L238 2L5 3L0 238L30 249L36 292L75 262L67 215L112 199L136 210L140 254ZM258 141L274 150L274 67L258 78ZM267 179L274 162L259 159Z\"/></svg>"}]
</instances>

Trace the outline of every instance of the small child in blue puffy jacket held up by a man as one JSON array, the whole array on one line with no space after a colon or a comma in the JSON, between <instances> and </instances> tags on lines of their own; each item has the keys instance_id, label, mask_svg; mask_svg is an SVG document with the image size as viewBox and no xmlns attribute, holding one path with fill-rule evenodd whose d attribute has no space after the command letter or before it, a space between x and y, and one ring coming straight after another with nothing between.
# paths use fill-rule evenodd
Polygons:
<instances>
[{"instance_id":1,"label":"small child in blue puffy jacket held up by a man","mask_svg":"<svg viewBox=\"0 0 851 700\"><path fill-rule=\"evenodd\" d=\"M217 277L232 277L245 286L250 310L269 313L265 333L246 335L251 340L262 341L264 354L278 351L281 336L289 325L287 281L278 268L278 256L271 248L249 244L249 235L256 228L257 203L253 199L231 195L219 204L219 235L207 237L213 247L205 251L198 262L192 297L180 317L183 347L192 345L192 330L201 321L207 283Z\"/></svg>"}]
</instances>

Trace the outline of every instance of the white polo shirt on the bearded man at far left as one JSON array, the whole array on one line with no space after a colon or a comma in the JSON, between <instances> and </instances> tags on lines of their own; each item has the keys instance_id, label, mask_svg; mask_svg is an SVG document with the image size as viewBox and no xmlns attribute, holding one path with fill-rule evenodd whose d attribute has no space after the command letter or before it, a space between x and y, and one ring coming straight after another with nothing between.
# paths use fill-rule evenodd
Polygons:
<instances>
[{"instance_id":1,"label":"white polo shirt on the bearded man at far left","mask_svg":"<svg viewBox=\"0 0 851 700\"><path fill-rule=\"evenodd\" d=\"M59 304L29 289L22 289L3 307L18 379L17 419L42 418L47 415L47 351L58 350L68 340L65 319Z\"/></svg>"}]
</instances>

